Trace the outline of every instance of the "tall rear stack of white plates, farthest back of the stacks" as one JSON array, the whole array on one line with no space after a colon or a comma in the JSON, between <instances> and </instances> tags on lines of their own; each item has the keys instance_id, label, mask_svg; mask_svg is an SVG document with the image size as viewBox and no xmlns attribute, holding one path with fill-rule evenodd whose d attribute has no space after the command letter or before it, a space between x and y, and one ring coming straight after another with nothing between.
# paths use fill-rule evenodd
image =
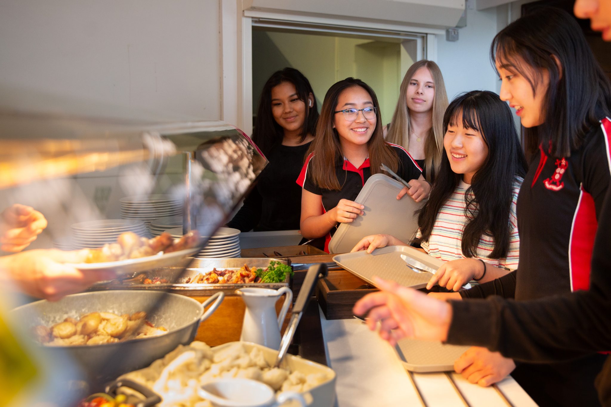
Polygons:
<instances>
[{"instance_id":1,"label":"tall rear stack of white plates, farthest back of the stacks","mask_svg":"<svg viewBox=\"0 0 611 407\"><path fill-rule=\"evenodd\" d=\"M121 217L142 220L149 225L153 220L183 214L183 201L172 195L139 195L121 198Z\"/></svg>"}]
</instances>

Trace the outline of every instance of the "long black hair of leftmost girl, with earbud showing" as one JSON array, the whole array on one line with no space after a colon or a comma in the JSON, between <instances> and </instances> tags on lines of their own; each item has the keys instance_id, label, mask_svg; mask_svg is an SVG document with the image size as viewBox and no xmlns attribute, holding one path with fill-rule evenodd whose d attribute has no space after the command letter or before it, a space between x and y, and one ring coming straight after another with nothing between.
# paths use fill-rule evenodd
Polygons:
<instances>
[{"instance_id":1,"label":"long black hair of leftmost girl, with earbud showing","mask_svg":"<svg viewBox=\"0 0 611 407\"><path fill-rule=\"evenodd\" d=\"M275 146L282 143L284 137L284 129L280 124L276 123L274 116L271 113L271 89L274 86L280 85L283 82L290 82L295 85L297 97L305 103L305 118L304 124L301 127L301 142L305 140L308 134L314 135L316 130L316 120L318 120L318 107L316 106L316 97L312 90L312 85L307 77L295 68L284 68L276 71L269 77L259 99L259 109L257 110L257 118L255 120L255 128L252 131L252 141L263 151L263 154L269 154L269 151ZM312 93L312 106L309 106L308 98Z\"/></svg>"}]
</instances>

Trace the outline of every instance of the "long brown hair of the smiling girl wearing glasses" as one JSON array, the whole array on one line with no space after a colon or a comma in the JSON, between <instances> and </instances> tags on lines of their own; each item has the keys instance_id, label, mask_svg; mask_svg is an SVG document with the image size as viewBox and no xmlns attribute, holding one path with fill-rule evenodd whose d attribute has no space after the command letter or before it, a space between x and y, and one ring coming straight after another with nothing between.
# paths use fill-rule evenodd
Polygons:
<instances>
[{"instance_id":1,"label":"long brown hair of the smiling girl wearing glasses","mask_svg":"<svg viewBox=\"0 0 611 407\"><path fill-rule=\"evenodd\" d=\"M315 157L310 162L310 171L312 171L313 182L323 189L341 190L342 184L345 182L340 180L335 175L335 164L337 160L343 157L342 146L337 130L333 128L335 118L335 107L340 94L352 87L364 88L371 96L371 101L376 109L376 127L373 129L371 139L367 142L369 152L369 162L371 167L371 175L380 173L380 165L382 163L390 167L391 170L397 171L399 167L399 157L388 143L384 141L382 135L382 117L378 104L378 98L373 89L360 79L347 77L343 81L339 81L332 85L327 94L324 95L323 107L321 107L318 124L316 124L316 138L310 145L307 156L314 153ZM347 176L347 173L346 173Z\"/></svg>"}]
</instances>

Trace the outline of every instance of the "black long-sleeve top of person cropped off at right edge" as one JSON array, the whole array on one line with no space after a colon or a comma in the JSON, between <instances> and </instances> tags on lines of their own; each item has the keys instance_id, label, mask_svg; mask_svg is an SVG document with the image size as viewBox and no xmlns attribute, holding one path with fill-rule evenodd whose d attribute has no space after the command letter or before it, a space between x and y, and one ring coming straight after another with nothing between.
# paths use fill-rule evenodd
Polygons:
<instances>
[{"instance_id":1,"label":"black long-sleeve top of person cropped off at right edge","mask_svg":"<svg viewBox=\"0 0 611 407\"><path fill-rule=\"evenodd\" d=\"M611 135L611 131L607 131L611 130L611 121L604 121L602 129L605 139L599 148L606 156L607 165L611 166L611 149L606 140L607 134ZM513 301L498 296L509 294L511 282L516 276L521 278L521 275L510 273L478 291L483 296L491 294L486 301L452 301L453 318L447 342L488 347L524 362L563 361L611 349L610 189L606 190L602 203L597 202L596 213L598 228L591 254L589 290ZM518 270L522 270L522 258ZM532 271L541 273L544 270ZM474 320L478 321L477 329L474 329ZM598 376L597 387L602 405L611 405L609 358Z\"/></svg>"}]
</instances>

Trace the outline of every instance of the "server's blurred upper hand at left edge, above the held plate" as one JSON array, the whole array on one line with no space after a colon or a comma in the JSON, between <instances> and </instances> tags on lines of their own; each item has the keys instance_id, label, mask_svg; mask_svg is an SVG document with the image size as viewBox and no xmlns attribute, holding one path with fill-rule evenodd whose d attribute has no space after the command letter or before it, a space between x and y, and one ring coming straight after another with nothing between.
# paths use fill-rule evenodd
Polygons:
<instances>
[{"instance_id":1,"label":"server's blurred upper hand at left edge, above the held plate","mask_svg":"<svg viewBox=\"0 0 611 407\"><path fill-rule=\"evenodd\" d=\"M14 204L0 215L0 250L16 253L28 247L46 228L43 214L30 206Z\"/></svg>"}]
</instances>

